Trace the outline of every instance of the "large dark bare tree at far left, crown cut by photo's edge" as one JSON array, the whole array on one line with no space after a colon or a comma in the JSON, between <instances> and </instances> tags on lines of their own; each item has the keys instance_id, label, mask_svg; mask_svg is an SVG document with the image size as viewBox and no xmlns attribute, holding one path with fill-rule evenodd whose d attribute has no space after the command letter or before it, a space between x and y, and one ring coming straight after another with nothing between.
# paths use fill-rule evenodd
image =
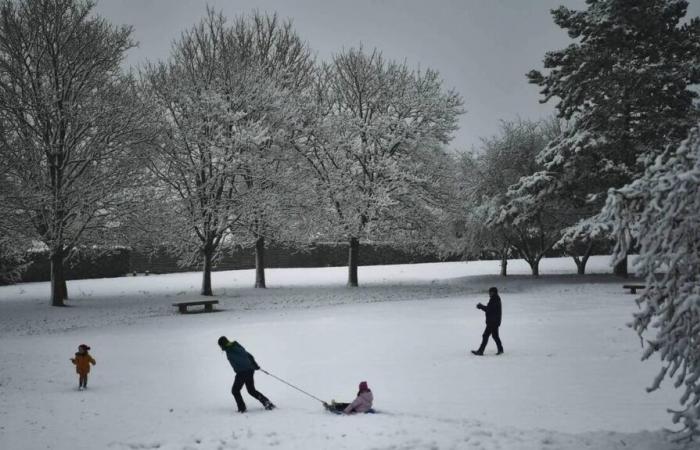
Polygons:
<instances>
[{"instance_id":1,"label":"large dark bare tree at far left, crown cut by photo's edge","mask_svg":"<svg viewBox=\"0 0 700 450\"><path fill-rule=\"evenodd\" d=\"M51 258L51 304L67 297L64 259L118 224L148 138L147 114L120 71L134 44L85 0L0 3L1 213Z\"/></svg>"}]
</instances>

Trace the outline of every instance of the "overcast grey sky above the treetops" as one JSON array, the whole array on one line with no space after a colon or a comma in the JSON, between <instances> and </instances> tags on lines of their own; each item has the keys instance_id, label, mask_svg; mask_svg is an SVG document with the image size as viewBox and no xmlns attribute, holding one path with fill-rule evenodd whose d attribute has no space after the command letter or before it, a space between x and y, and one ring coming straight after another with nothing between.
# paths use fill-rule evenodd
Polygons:
<instances>
[{"instance_id":1,"label":"overcast grey sky above the treetops","mask_svg":"<svg viewBox=\"0 0 700 450\"><path fill-rule=\"evenodd\" d=\"M302 38L327 59L362 43L387 58L430 67L464 98L452 148L478 146L500 119L537 119L553 111L538 102L525 73L542 67L545 51L570 40L549 10L585 6L584 0L99 0L97 11L134 27L139 48L128 64L167 58L170 44L196 23L209 4L227 17L253 9L290 18ZM688 16L700 15L690 0Z\"/></svg>"}]
</instances>

